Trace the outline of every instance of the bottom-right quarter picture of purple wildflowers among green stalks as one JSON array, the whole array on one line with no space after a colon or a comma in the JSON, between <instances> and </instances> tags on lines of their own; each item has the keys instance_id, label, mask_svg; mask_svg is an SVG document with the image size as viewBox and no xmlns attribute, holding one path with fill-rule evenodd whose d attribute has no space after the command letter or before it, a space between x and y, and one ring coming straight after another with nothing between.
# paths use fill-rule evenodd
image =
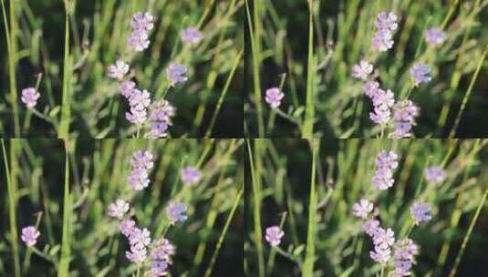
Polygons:
<instances>
[{"instance_id":1,"label":"bottom-right quarter picture of purple wildflowers among green stalks","mask_svg":"<svg viewBox=\"0 0 488 277\"><path fill-rule=\"evenodd\" d=\"M480 221L485 143L249 140L245 274L458 276L483 268L472 259L488 237ZM431 171L448 177L436 183Z\"/></svg>"}]
</instances>

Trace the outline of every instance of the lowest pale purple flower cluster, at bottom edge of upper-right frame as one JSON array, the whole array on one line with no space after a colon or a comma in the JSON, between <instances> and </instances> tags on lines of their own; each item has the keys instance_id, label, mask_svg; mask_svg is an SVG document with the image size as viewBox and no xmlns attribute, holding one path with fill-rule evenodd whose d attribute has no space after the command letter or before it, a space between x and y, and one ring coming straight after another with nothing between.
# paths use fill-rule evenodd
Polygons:
<instances>
[{"instance_id":1,"label":"lowest pale purple flower cluster, at bottom edge of upper-right frame","mask_svg":"<svg viewBox=\"0 0 488 277\"><path fill-rule=\"evenodd\" d=\"M410 138L411 128L415 125L415 118L419 116L417 106L410 100L402 100L394 107L395 130L390 134L393 139Z\"/></svg>"}]
</instances>

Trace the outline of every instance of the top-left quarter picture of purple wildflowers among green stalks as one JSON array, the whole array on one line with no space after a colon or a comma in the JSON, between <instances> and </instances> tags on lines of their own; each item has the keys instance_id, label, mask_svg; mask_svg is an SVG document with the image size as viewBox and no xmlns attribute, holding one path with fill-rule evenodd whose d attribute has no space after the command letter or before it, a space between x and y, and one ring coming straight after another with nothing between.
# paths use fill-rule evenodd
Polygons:
<instances>
[{"instance_id":1,"label":"top-left quarter picture of purple wildflowers among green stalks","mask_svg":"<svg viewBox=\"0 0 488 277\"><path fill-rule=\"evenodd\" d=\"M3 1L3 137L241 137L244 0L58 2Z\"/></svg>"}]
</instances>

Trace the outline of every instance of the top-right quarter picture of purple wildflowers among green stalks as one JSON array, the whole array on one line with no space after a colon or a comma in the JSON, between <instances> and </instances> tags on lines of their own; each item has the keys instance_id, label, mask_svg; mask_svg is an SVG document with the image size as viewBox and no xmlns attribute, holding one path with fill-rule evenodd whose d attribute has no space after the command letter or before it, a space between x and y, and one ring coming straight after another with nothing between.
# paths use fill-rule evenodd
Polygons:
<instances>
[{"instance_id":1,"label":"top-right quarter picture of purple wildflowers among green stalks","mask_svg":"<svg viewBox=\"0 0 488 277\"><path fill-rule=\"evenodd\" d=\"M247 1L248 137L486 137L482 2Z\"/></svg>"}]
</instances>

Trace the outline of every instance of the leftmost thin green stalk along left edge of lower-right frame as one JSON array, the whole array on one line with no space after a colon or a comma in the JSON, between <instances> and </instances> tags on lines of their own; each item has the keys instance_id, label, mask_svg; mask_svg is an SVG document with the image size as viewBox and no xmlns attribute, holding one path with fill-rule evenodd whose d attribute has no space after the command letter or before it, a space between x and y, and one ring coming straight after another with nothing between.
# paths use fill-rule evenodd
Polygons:
<instances>
[{"instance_id":1,"label":"leftmost thin green stalk along left edge of lower-right frame","mask_svg":"<svg viewBox=\"0 0 488 277\"><path fill-rule=\"evenodd\" d=\"M254 152L255 156L261 155L259 152L259 139L254 139ZM256 169L254 167L254 159L253 159L253 151L251 151L250 141L247 140L247 150L249 154L249 162L251 164L251 178L252 178L252 185L253 185L253 217L254 217L254 244L256 246L256 253L257 253L257 265L258 265L258 272L259 277L265 276L265 257L263 255L263 233L262 233L262 226L261 226L261 200L263 199L262 191L261 191L261 183L259 180L259 176L256 173Z\"/></svg>"}]
</instances>

